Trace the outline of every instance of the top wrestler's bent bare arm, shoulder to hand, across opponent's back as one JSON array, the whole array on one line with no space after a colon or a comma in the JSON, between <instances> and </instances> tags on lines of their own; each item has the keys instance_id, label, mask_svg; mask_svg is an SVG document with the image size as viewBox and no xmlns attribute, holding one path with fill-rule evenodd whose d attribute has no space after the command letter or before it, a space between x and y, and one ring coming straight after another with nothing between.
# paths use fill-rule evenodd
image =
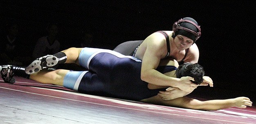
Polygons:
<instances>
[{"instance_id":1,"label":"top wrestler's bent bare arm, shoulder to hand, across opponent's back","mask_svg":"<svg viewBox=\"0 0 256 124\"><path fill-rule=\"evenodd\" d=\"M193 80L191 77L183 77L182 79L172 78L155 70L160 60L166 55L166 51L164 51L166 49L165 41L164 39L159 41L157 35L151 35L146 40L148 42L141 64L141 80L159 86L178 87L188 92L195 89L197 85L190 81Z\"/></svg>"}]
</instances>

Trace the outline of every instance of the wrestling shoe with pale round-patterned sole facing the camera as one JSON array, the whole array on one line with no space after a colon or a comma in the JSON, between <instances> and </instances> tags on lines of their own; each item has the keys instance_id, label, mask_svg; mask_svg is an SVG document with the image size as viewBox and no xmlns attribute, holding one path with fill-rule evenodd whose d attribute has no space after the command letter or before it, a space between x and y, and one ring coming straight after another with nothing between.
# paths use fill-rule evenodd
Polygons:
<instances>
[{"instance_id":1,"label":"wrestling shoe with pale round-patterned sole facing the camera","mask_svg":"<svg viewBox=\"0 0 256 124\"><path fill-rule=\"evenodd\" d=\"M36 73L42 69L47 69L58 64L58 58L53 55L45 55L43 57L37 58L34 60L27 68L25 73L32 74Z\"/></svg>"}]
</instances>

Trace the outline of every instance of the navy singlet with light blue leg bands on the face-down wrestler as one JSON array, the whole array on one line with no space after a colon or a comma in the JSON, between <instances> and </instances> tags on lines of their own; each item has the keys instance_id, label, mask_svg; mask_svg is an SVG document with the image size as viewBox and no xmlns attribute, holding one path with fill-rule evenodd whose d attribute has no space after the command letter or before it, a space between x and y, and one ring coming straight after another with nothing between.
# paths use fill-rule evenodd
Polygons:
<instances>
[{"instance_id":1,"label":"navy singlet with light blue leg bands on the face-down wrestler","mask_svg":"<svg viewBox=\"0 0 256 124\"><path fill-rule=\"evenodd\" d=\"M92 50L96 52L91 52ZM79 55L79 64L89 71L70 71L65 76L63 85L81 93L139 101L165 90L148 89L148 83L140 78L141 60L115 51L84 48ZM175 66L157 68L161 73L176 69ZM74 85L67 86L72 78Z\"/></svg>"}]
</instances>

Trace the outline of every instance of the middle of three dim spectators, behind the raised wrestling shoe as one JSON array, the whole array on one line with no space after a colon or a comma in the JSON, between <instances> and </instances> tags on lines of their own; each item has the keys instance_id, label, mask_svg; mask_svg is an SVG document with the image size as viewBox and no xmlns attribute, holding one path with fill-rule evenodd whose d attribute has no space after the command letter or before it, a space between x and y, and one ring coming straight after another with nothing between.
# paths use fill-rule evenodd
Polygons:
<instances>
[{"instance_id":1,"label":"middle of three dim spectators, behind the raised wrestling shoe","mask_svg":"<svg viewBox=\"0 0 256 124\"><path fill-rule=\"evenodd\" d=\"M46 30L48 31L48 35L41 37L36 42L34 51L33 51L33 58L38 58L40 56L54 54L60 51L60 43L57 40L58 34L58 24L56 23L49 23L47 25Z\"/></svg>"}]
</instances>

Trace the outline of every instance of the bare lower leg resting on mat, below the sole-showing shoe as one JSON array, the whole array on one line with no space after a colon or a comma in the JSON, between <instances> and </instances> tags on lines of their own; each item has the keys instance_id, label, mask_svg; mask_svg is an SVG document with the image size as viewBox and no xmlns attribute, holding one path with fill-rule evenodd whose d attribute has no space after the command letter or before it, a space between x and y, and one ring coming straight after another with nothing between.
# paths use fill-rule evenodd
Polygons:
<instances>
[{"instance_id":1,"label":"bare lower leg resting on mat, below the sole-showing shoe","mask_svg":"<svg viewBox=\"0 0 256 124\"><path fill-rule=\"evenodd\" d=\"M55 84L63 86L63 80L69 70L58 69L54 71L41 70L38 73L30 75L31 80L35 80L44 84Z\"/></svg>"}]
</instances>

